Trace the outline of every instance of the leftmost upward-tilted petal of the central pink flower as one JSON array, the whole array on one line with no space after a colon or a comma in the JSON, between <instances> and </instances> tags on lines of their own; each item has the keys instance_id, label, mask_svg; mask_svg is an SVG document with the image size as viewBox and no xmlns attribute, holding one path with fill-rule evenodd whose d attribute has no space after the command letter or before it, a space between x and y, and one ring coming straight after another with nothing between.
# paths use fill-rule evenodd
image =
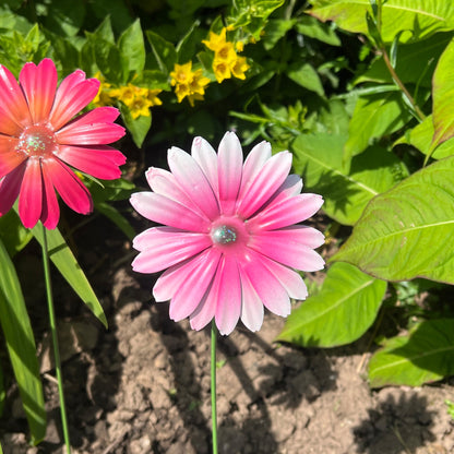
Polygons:
<instances>
[{"instance_id":1,"label":"leftmost upward-tilted petal of the central pink flower","mask_svg":"<svg viewBox=\"0 0 454 454\"><path fill-rule=\"evenodd\" d=\"M136 192L131 195L131 205L143 216L155 223L183 230L207 232L208 222L178 202L155 192Z\"/></svg>"}]
</instances>

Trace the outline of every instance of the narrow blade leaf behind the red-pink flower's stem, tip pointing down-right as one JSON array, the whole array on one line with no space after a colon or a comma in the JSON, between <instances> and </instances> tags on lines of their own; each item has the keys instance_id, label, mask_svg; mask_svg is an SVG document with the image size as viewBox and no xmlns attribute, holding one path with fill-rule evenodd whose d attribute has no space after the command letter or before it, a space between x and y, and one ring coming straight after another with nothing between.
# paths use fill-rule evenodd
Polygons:
<instances>
[{"instance_id":1,"label":"narrow blade leaf behind the red-pink flower's stem, tip pointing down-right","mask_svg":"<svg viewBox=\"0 0 454 454\"><path fill-rule=\"evenodd\" d=\"M43 246L43 226L36 225L32 232L38 242ZM68 284L77 294L82 301L95 314L95 316L107 327L106 315L99 303L92 286L89 285L84 272L75 260L73 253L68 247L64 238L58 228L47 230L47 244L49 248L49 258L57 266L57 270L67 279Z\"/></svg>"}]
</instances>

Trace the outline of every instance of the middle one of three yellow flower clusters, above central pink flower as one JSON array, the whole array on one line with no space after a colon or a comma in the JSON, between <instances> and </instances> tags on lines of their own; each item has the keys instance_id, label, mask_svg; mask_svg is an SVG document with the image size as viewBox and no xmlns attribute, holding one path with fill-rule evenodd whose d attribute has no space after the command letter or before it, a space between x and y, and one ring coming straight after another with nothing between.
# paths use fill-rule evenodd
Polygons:
<instances>
[{"instance_id":1,"label":"middle one of three yellow flower clusters, above central pink flower","mask_svg":"<svg viewBox=\"0 0 454 454\"><path fill-rule=\"evenodd\" d=\"M192 71L192 61L184 64L176 63L170 77L170 84L175 86L178 103L188 97L192 107L195 99L203 99L205 86L210 83L210 79L202 74L201 69Z\"/></svg>"}]
</instances>

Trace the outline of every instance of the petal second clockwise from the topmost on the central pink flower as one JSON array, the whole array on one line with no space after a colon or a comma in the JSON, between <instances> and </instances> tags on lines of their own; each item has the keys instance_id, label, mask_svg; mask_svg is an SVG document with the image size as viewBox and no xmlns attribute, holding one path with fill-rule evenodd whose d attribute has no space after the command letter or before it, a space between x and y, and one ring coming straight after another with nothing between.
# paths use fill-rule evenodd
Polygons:
<instances>
[{"instance_id":1,"label":"petal second clockwise from the topmost on the central pink flower","mask_svg":"<svg viewBox=\"0 0 454 454\"><path fill-rule=\"evenodd\" d=\"M248 218L267 202L288 177L291 167L291 154L282 152L270 158L259 175L244 188L239 202L238 213Z\"/></svg>"}]
</instances>

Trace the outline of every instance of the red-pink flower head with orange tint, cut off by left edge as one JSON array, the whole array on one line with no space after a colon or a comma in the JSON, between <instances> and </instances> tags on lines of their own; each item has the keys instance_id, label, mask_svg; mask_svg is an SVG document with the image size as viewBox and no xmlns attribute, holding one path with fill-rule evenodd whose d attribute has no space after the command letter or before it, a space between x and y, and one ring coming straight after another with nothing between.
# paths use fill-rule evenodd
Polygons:
<instances>
[{"instance_id":1,"label":"red-pink flower head with orange tint, cut off by left edge","mask_svg":"<svg viewBox=\"0 0 454 454\"><path fill-rule=\"evenodd\" d=\"M25 63L19 76L0 65L0 216L19 196L25 227L41 220L56 228L60 208L56 191L72 210L87 214L92 196L72 168L95 178L119 178L126 157L107 144L124 135L113 123L119 112L99 107L79 113L96 96L99 81L81 70L57 87L50 59Z\"/></svg>"}]
</instances>

